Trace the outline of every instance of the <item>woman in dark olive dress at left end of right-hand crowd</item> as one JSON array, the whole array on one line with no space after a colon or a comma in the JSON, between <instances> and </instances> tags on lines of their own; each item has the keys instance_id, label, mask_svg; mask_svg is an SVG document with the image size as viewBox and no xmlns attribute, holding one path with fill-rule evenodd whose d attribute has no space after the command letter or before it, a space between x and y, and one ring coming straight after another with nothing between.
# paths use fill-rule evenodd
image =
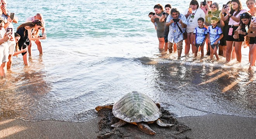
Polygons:
<instances>
[{"instance_id":1,"label":"woman in dark olive dress at left end of right-hand crowd","mask_svg":"<svg viewBox=\"0 0 256 139\"><path fill-rule=\"evenodd\" d=\"M156 22L156 33L159 41L158 48L160 52L164 51L164 22L160 22L159 19L163 14L163 6L161 4L157 4L154 6L155 14L151 16L151 22ZM167 47L167 46L166 46Z\"/></svg>"}]
</instances>

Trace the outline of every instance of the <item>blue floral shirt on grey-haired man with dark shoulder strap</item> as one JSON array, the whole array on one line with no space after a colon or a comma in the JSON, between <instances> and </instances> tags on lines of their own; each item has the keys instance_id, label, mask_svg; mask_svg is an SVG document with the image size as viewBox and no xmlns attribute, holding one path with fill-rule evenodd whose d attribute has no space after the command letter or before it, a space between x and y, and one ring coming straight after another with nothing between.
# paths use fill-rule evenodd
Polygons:
<instances>
[{"instance_id":1,"label":"blue floral shirt on grey-haired man with dark shoulder strap","mask_svg":"<svg viewBox=\"0 0 256 139\"><path fill-rule=\"evenodd\" d=\"M166 22L170 22L171 19L173 19L173 17L171 15L169 15L166 19ZM185 17L185 15L180 14L180 16L178 17L178 19L182 20L182 22L184 24L188 24L187 19ZM178 25L180 27L180 29L182 29L182 32L180 31L180 29L178 28ZM182 28L182 25L180 23L171 23L170 25L170 31L168 34L168 41L170 41L171 43L177 43L183 40L183 33L185 32L186 28Z\"/></svg>"}]
</instances>

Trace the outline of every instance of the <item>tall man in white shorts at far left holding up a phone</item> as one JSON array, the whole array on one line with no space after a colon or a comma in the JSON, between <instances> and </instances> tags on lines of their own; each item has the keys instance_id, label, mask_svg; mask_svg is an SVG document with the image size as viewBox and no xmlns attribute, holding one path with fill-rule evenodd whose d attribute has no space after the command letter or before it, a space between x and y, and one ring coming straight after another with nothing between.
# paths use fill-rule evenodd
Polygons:
<instances>
[{"instance_id":1,"label":"tall man in white shorts at far left holding up a phone","mask_svg":"<svg viewBox=\"0 0 256 139\"><path fill-rule=\"evenodd\" d=\"M1 18L6 23L4 26L5 31L12 32L11 33L12 37L11 37L10 41L7 42L7 44L9 45L9 56L8 56L9 61L7 62L7 69L10 69L12 67L12 56L14 54L15 46L16 46L16 43L14 40L14 27L13 27L12 22L18 23L18 18L13 15L12 19L11 19L11 17L10 17L11 13L9 12L9 10L7 10L7 1L6 0L1 0L1 12L0 13L2 13Z\"/></svg>"}]
</instances>

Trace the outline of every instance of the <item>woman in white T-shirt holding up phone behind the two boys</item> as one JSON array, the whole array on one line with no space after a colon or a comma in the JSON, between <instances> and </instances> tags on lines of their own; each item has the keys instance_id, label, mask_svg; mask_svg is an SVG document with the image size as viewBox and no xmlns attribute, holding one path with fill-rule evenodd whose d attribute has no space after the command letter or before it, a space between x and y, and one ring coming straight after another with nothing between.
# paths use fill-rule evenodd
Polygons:
<instances>
[{"instance_id":1,"label":"woman in white T-shirt holding up phone behind the two boys","mask_svg":"<svg viewBox=\"0 0 256 139\"><path fill-rule=\"evenodd\" d=\"M191 0L190 8L187 8L184 12L185 17L187 18L188 24L186 28L187 39L185 39L185 55L189 54L190 44L192 45L192 53L195 53L197 47L194 46L194 29L198 27L197 19L200 17L205 19L204 11L199 8L199 4L196 0Z\"/></svg>"}]
</instances>

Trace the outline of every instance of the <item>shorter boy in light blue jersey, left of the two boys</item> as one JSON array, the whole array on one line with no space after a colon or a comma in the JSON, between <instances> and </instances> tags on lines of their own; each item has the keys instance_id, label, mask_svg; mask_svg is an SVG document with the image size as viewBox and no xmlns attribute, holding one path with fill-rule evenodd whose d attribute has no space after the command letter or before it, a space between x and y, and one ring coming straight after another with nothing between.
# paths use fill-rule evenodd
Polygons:
<instances>
[{"instance_id":1,"label":"shorter boy in light blue jersey, left of the two boys","mask_svg":"<svg viewBox=\"0 0 256 139\"><path fill-rule=\"evenodd\" d=\"M196 47L195 58L197 57L199 46L201 47L201 58L204 58L204 43L207 38L208 32L207 29L204 27L204 18L200 17L197 20L197 23L199 27L196 27L194 30L195 37L193 42Z\"/></svg>"}]
</instances>

